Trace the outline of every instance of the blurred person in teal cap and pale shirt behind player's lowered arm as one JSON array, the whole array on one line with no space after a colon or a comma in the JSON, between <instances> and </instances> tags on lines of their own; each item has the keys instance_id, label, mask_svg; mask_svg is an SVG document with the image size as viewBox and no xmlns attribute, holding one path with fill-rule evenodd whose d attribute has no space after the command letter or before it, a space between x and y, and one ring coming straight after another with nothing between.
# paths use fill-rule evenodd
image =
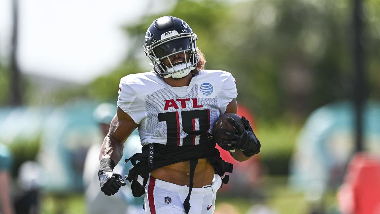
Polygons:
<instances>
[{"instance_id":1,"label":"blurred person in teal cap and pale shirt behind player's lowered arm","mask_svg":"<svg viewBox=\"0 0 380 214\"><path fill-rule=\"evenodd\" d=\"M102 103L93 112L93 117L101 131L101 136L105 137L109 131L112 118L116 114L116 105ZM83 182L85 188L85 201L87 213L89 214L139 214L144 213L142 209L142 198L132 196L130 188L122 188L115 194L116 197L108 197L99 188L99 153L101 140L96 141L87 152L83 170ZM141 150L138 133L131 134L124 147L124 157L128 158ZM122 158L123 160L123 158ZM120 161L114 168L119 174L126 174L131 168L131 164L123 165Z\"/></svg>"}]
</instances>

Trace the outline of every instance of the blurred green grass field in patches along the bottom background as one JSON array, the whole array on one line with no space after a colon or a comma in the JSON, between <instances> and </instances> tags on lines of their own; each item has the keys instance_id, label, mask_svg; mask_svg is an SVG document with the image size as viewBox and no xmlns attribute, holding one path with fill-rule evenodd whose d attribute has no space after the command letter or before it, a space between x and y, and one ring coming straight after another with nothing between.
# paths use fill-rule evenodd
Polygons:
<instances>
[{"instance_id":1,"label":"blurred green grass field in patches along the bottom background","mask_svg":"<svg viewBox=\"0 0 380 214\"><path fill-rule=\"evenodd\" d=\"M267 195L266 205L277 211L278 214L307 214L310 205L307 204L301 193L294 192L287 187L287 177L267 177L264 180L264 190ZM229 197L220 195L216 201L216 209L233 206L238 214L246 214L251 206L259 203L255 199ZM335 193L331 192L325 199L326 213L336 214ZM41 214L85 214L86 208L82 194L69 196L45 195L41 204ZM220 212L228 213L228 212Z\"/></svg>"}]
</instances>

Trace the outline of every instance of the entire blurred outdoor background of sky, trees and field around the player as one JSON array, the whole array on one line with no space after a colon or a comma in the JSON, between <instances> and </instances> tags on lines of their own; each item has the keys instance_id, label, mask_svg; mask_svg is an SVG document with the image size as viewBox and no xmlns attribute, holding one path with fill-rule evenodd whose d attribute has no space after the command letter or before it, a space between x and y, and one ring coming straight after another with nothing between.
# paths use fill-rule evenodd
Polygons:
<instances>
[{"instance_id":1,"label":"entire blurred outdoor background of sky, trees and field around the player","mask_svg":"<svg viewBox=\"0 0 380 214\"><path fill-rule=\"evenodd\" d=\"M0 213L100 212L102 128L165 15L233 74L262 144L215 214L380 213L380 0L0 0ZM118 213L141 213L121 192Z\"/></svg>"}]
</instances>

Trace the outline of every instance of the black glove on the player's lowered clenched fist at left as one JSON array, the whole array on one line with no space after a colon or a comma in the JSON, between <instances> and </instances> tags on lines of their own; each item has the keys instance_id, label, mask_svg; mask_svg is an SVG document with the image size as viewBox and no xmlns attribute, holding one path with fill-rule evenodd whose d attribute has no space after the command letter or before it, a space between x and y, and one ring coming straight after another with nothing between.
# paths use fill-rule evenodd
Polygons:
<instances>
[{"instance_id":1,"label":"black glove on the player's lowered clenched fist at left","mask_svg":"<svg viewBox=\"0 0 380 214\"><path fill-rule=\"evenodd\" d=\"M109 167L100 169L98 176L100 180L100 190L108 196L114 195L119 191L121 186L125 186L125 181L121 175L112 171Z\"/></svg>"}]
</instances>

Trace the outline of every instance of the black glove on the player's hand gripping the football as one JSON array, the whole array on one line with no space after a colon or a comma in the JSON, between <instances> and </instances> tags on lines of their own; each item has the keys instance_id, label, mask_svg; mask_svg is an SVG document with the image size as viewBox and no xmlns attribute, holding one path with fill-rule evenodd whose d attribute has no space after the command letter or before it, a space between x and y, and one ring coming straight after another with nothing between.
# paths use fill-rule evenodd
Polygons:
<instances>
[{"instance_id":1,"label":"black glove on the player's hand gripping the football","mask_svg":"<svg viewBox=\"0 0 380 214\"><path fill-rule=\"evenodd\" d=\"M260 141L257 139L255 133L253 133L252 127L245 117L241 118L247 128L247 130L243 129L239 126L232 117L227 119L228 122L231 123L232 126L237 130L236 133L233 132L225 132L227 136L232 137L232 140L226 141L226 143L231 145L233 149L242 150L244 155L250 157L260 152Z\"/></svg>"}]
</instances>

